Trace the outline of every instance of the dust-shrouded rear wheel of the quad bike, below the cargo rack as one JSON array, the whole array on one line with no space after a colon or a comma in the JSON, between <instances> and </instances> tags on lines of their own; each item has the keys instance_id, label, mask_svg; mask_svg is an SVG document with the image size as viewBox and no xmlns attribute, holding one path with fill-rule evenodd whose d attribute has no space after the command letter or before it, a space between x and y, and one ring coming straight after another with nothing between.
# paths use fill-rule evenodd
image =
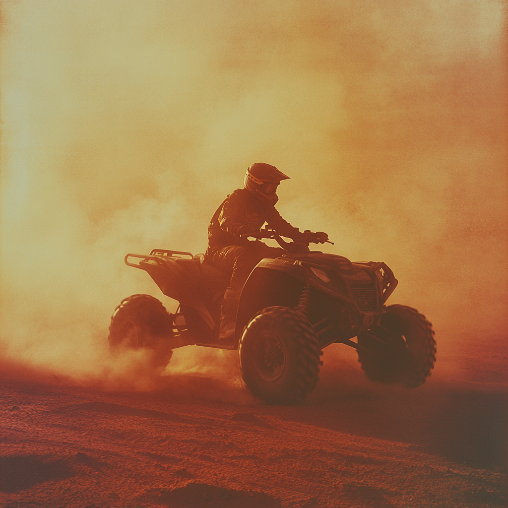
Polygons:
<instances>
[{"instance_id":1,"label":"dust-shrouded rear wheel of the quad bike, below the cargo rack","mask_svg":"<svg viewBox=\"0 0 508 508\"><path fill-rule=\"evenodd\" d=\"M113 312L108 341L112 353L145 348L153 367L166 367L173 354L168 341L172 335L171 316L164 305L150 295L132 295Z\"/></svg>"}]
</instances>

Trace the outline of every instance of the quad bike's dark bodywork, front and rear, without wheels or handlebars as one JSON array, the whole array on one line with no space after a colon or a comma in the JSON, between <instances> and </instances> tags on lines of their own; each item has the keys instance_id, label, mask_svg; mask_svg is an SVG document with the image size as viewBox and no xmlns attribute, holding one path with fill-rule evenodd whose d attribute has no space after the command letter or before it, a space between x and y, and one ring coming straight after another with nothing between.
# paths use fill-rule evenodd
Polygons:
<instances>
[{"instance_id":1,"label":"quad bike's dark bodywork, front and rear, without wheels or handlebars","mask_svg":"<svg viewBox=\"0 0 508 508\"><path fill-rule=\"evenodd\" d=\"M130 263L130 257L141 260ZM321 347L332 342L353 345L349 339L379 324L385 301L397 285L384 263L352 263L320 251L265 258L244 284L234 341L224 344L217 338L227 274L207 264L203 255L172 250L154 249L149 256L128 254L125 263L145 270L164 295L180 302L173 329L178 346L237 349L253 315L267 307L297 307L306 287L312 289L308 319Z\"/></svg>"}]
</instances>

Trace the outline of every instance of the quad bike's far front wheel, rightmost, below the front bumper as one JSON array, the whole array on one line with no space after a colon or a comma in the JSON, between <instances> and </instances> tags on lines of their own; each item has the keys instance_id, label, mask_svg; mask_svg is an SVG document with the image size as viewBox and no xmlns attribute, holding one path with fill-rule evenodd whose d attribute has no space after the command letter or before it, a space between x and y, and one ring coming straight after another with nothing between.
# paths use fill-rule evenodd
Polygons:
<instances>
[{"instance_id":1,"label":"quad bike's far front wheel, rightmost, below the front bumper","mask_svg":"<svg viewBox=\"0 0 508 508\"><path fill-rule=\"evenodd\" d=\"M366 376L381 383L417 388L425 383L436 361L432 324L405 305L387 307L379 327L358 334L358 345L368 350L358 350Z\"/></svg>"}]
</instances>

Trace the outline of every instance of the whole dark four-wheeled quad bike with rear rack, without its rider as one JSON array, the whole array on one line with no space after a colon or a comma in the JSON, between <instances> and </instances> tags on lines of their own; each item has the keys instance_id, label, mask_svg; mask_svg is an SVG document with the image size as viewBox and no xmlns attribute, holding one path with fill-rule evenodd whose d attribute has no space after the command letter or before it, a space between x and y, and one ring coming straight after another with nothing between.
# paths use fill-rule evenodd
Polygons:
<instances>
[{"instance_id":1,"label":"whole dark four-wheeled quad bike with rear rack, without its rider","mask_svg":"<svg viewBox=\"0 0 508 508\"><path fill-rule=\"evenodd\" d=\"M436 359L432 325L414 308L386 306L398 281L385 263L310 251L267 229L246 236L275 239L287 253L263 259L250 273L228 343L219 341L218 324L230 274L203 254L153 249L128 253L125 264L148 272L180 305L173 314L150 295L126 298L111 317L111 351L144 348L162 371L177 347L238 350L247 388L278 404L301 401L314 389L322 350L332 343L354 347L373 381L407 388L425 382Z\"/></svg>"}]
</instances>

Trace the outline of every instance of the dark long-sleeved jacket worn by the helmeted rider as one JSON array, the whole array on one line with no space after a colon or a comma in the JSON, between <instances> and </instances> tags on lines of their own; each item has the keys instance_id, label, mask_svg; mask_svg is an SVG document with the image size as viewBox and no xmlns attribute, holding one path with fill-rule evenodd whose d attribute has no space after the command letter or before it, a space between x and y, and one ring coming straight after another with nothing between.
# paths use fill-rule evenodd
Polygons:
<instances>
[{"instance_id":1,"label":"dark long-sleeved jacket worn by the helmeted rider","mask_svg":"<svg viewBox=\"0 0 508 508\"><path fill-rule=\"evenodd\" d=\"M213 214L208 226L208 247L247 245L247 238L237 235L238 229L245 224L260 229L265 222L282 236L292 239L298 237L298 228L286 222L273 205L263 203L246 188L236 189Z\"/></svg>"}]
</instances>

